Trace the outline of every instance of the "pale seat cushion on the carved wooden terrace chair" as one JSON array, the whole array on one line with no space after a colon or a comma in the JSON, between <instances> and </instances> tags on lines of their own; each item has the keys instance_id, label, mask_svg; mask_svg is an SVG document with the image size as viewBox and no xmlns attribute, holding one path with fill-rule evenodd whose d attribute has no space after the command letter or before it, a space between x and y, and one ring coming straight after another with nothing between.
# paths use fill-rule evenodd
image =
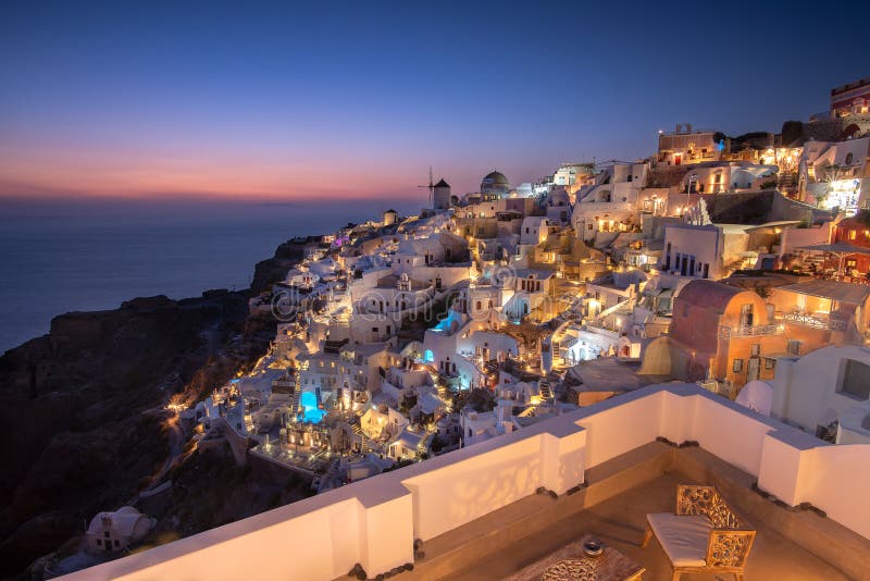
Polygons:
<instances>
[{"instance_id":1,"label":"pale seat cushion on the carved wooden terrace chair","mask_svg":"<svg viewBox=\"0 0 870 581\"><path fill-rule=\"evenodd\" d=\"M646 516L674 567L705 567L712 522L707 517L658 512Z\"/></svg>"}]
</instances>

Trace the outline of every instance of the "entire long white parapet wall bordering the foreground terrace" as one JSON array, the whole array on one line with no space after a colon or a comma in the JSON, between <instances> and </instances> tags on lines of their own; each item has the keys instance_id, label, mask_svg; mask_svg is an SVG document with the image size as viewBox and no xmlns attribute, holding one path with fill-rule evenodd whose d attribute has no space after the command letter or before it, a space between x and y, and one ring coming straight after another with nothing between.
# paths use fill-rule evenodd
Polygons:
<instances>
[{"instance_id":1,"label":"entire long white parapet wall bordering the foreground terrace","mask_svg":"<svg viewBox=\"0 0 870 581\"><path fill-rule=\"evenodd\" d=\"M831 446L694 384L649 386L401 470L73 573L69 579L335 579L360 563L374 577L428 540L533 494L562 494L586 468L658 436L697 441L870 537L870 446Z\"/></svg>"}]
</instances>

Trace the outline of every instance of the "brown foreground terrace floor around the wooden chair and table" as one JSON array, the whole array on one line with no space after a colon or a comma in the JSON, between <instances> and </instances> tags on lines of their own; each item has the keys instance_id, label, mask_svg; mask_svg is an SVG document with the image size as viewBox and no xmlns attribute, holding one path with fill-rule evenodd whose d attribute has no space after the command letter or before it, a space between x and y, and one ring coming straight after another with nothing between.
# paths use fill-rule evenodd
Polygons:
<instances>
[{"instance_id":1,"label":"brown foreground terrace floor around the wooden chair and table","mask_svg":"<svg viewBox=\"0 0 870 581\"><path fill-rule=\"evenodd\" d=\"M714 484L755 527L747 581L838 581L850 579L843 571L862 577L870 570L870 541L830 519L762 498L751 491L753 477L697 447L675 449L654 442L588 470L586 477L588 485L576 494L557 499L533 494L426 541L421 547L424 556L401 578L501 579L593 534L643 566L644 580L670 581L670 563L658 541L654 537L646 548L639 544L646 515L672 512L676 485L692 483ZM811 546L819 551L804 548ZM732 578L682 577L686 581Z\"/></svg>"}]
</instances>

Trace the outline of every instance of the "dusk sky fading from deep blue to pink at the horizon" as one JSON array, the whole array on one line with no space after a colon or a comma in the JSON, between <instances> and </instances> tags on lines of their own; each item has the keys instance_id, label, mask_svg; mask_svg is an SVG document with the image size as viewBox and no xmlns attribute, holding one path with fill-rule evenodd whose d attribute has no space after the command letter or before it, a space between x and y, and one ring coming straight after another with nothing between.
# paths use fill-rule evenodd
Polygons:
<instances>
[{"instance_id":1,"label":"dusk sky fading from deep blue to pink at the horizon","mask_svg":"<svg viewBox=\"0 0 870 581\"><path fill-rule=\"evenodd\" d=\"M424 200L430 165L462 194L778 132L870 75L798 3L293 4L0 3L0 197Z\"/></svg>"}]
</instances>

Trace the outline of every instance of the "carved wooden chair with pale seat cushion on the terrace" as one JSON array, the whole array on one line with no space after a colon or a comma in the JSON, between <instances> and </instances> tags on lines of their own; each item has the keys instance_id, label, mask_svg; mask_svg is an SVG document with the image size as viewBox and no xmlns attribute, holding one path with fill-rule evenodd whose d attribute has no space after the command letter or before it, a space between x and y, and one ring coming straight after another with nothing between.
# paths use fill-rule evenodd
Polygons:
<instances>
[{"instance_id":1,"label":"carved wooden chair with pale seat cushion on the terrace","mask_svg":"<svg viewBox=\"0 0 870 581\"><path fill-rule=\"evenodd\" d=\"M646 520L641 546L656 535L671 561L672 581L684 572L734 573L743 581L756 531L731 510L714 486L681 484L675 514L647 515Z\"/></svg>"}]
</instances>

